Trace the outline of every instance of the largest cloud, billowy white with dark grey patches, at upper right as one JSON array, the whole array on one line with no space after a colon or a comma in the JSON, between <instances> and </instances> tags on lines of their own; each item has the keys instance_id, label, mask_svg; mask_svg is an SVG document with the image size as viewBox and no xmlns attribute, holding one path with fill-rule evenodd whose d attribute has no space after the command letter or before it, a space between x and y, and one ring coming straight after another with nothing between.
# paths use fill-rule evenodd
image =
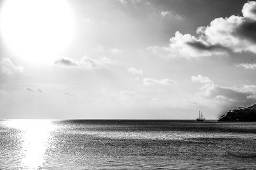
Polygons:
<instances>
[{"instance_id":1,"label":"largest cloud, billowy white with dark grey patches, at upper right","mask_svg":"<svg viewBox=\"0 0 256 170\"><path fill-rule=\"evenodd\" d=\"M256 53L255 10L256 2L249 1L243 6L243 17L216 18L209 25L198 27L196 37L177 31L170 38L169 46L150 46L148 49L160 56L186 58L226 55L229 52Z\"/></svg>"}]
</instances>

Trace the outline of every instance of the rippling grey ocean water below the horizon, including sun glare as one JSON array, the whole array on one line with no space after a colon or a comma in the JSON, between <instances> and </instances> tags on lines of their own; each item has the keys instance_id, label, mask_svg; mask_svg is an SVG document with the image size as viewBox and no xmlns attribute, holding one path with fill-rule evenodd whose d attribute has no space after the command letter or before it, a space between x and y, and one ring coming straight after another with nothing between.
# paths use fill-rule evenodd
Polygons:
<instances>
[{"instance_id":1,"label":"rippling grey ocean water below the horizon, including sun glare","mask_svg":"<svg viewBox=\"0 0 256 170\"><path fill-rule=\"evenodd\" d=\"M0 169L256 169L256 123L1 120Z\"/></svg>"}]
</instances>

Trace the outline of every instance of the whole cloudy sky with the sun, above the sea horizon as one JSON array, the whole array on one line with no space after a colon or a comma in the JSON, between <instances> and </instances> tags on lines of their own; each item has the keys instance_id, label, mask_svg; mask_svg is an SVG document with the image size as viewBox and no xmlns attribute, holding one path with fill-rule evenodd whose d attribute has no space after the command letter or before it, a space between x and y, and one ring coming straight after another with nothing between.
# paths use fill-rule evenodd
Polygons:
<instances>
[{"instance_id":1,"label":"whole cloudy sky with the sun, above the sea horizon","mask_svg":"<svg viewBox=\"0 0 256 170\"><path fill-rule=\"evenodd\" d=\"M0 118L218 119L256 103L256 2L0 0Z\"/></svg>"}]
</instances>

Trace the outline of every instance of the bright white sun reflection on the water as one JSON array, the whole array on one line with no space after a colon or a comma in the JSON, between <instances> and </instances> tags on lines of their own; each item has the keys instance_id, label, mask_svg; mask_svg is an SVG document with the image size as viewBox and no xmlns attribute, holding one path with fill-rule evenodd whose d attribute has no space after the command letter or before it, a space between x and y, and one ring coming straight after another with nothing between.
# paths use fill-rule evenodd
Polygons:
<instances>
[{"instance_id":1,"label":"bright white sun reflection on the water","mask_svg":"<svg viewBox=\"0 0 256 170\"><path fill-rule=\"evenodd\" d=\"M45 150L49 147L47 143L54 129L51 120L8 120L8 127L21 131L23 155L21 167L38 169L44 164Z\"/></svg>"}]
</instances>

